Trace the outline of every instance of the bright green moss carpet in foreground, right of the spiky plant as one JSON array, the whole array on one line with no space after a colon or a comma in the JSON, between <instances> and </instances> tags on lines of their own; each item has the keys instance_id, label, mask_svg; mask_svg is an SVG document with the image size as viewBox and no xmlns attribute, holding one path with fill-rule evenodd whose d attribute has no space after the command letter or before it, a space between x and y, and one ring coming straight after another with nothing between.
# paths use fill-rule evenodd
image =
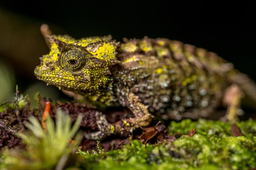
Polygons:
<instances>
[{"instance_id":1,"label":"bright green moss carpet in foreground, right of the spiky plant","mask_svg":"<svg viewBox=\"0 0 256 170\"><path fill-rule=\"evenodd\" d=\"M239 122L244 136L234 137L230 123L199 119L172 122L170 133L187 134L175 142L144 145L132 140L121 150L88 153L79 150L82 156L80 167L88 169L253 169L256 168L256 121ZM246 137L247 136L247 137Z\"/></svg>"}]
</instances>

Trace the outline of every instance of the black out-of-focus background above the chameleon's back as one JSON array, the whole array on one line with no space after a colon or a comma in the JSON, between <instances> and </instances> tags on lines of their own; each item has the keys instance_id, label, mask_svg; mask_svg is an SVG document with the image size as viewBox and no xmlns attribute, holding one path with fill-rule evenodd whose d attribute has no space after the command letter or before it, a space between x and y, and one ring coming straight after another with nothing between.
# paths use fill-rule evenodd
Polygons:
<instances>
[{"instance_id":1,"label":"black out-of-focus background above the chameleon's back","mask_svg":"<svg viewBox=\"0 0 256 170\"><path fill-rule=\"evenodd\" d=\"M256 79L256 43L253 38L255 37L255 26L253 26L255 18L253 21L250 4L191 1L154 3L149 1L85 1L84 3L5 1L1 3L0 9L4 11L1 18L6 18L5 14L12 15L14 25L10 28L15 27L15 31L30 30L34 31L32 34L38 36L41 24L47 23L54 34L69 34L75 38L108 34L118 41L122 41L123 37L164 37L213 51L232 62L241 72ZM1 21L1 29L6 28L8 24L13 24ZM1 34L11 36L13 33L1 31ZM6 42L1 41L1 45L6 45L4 43ZM12 65L17 75L16 84L20 85L23 91L28 85L37 81L33 68L39 64L38 57L48 53L44 42L37 48L40 50L31 52L31 56L34 55L33 58L25 58L30 55L24 55L24 59L15 59L12 57L13 54L6 52L3 48L0 51L0 59ZM31 51L33 49L31 48ZM12 47L12 51L15 51L15 47Z\"/></svg>"}]
</instances>

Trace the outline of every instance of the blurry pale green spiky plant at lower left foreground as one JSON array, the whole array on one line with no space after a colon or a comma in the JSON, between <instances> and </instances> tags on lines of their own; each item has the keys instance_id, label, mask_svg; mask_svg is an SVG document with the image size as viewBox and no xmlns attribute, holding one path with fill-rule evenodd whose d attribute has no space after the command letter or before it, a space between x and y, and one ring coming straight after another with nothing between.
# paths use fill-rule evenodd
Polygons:
<instances>
[{"instance_id":1,"label":"blurry pale green spiky plant at lower left foreground","mask_svg":"<svg viewBox=\"0 0 256 170\"><path fill-rule=\"evenodd\" d=\"M34 116L29 117L26 127L31 133L18 133L26 144L24 150L9 149L3 152L1 169L63 169L72 150L81 142L82 134L77 133L81 115L72 126L68 114L57 112L55 124L47 118L47 132ZM77 134L76 134L77 133ZM71 143L70 139L75 142Z\"/></svg>"}]
</instances>

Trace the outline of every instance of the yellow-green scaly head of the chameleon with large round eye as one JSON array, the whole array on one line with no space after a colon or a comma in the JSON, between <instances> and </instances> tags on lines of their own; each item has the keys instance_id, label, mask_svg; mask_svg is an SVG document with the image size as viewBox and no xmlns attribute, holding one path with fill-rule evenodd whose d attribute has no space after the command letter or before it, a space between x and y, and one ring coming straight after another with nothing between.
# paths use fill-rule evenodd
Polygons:
<instances>
[{"instance_id":1,"label":"yellow-green scaly head of the chameleon with large round eye","mask_svg":"<svg viewBox=\"0 0 256 170\"><path fill-rule=\"evenodd\" d=\"M50 85L83 93L106 88L116 59L116 45L111 36L80 40L64 35L48 37L50 52L40 58L35 76Z\"/></svg>"}]
</instances>

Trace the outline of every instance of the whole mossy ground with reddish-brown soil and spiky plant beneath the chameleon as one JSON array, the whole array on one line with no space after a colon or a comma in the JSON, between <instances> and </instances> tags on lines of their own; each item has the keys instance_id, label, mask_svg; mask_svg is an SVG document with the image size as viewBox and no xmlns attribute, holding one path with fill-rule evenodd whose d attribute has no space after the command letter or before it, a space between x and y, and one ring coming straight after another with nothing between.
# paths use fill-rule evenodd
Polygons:
<instances>
[{"instance_id":1,"label":"whole mossy ground with reddish-brown soil and spiky plant beneath the chameleon","mask_svg":"<svg viewBox=\"0 0 256 170\"><path fill-rule=\"evenodd\" d=\"M29 104L29 99L25 98L16 103L22 100ZM36 96L35 101L44 103L45 99ZM67 110L73 108L80 111L82 120L75 124L77 114L67 114ZM256 168L256 120L253 119L235 124L207 119L171 121L147 144L138 138L141 134L150 137L147 130L137 131L139 135L113 135L102 142L86 139L81 142L82 131L95 128L93 120L81 123L87 119L84 115L88 111L93 113L93 109L75 103L55 103L52 105L54 113L51 113L55 124L49 118L47 121L52 123L47 123L47 132L38 121L43 107L17 107L6 103L1 109L0 169ZM80 130L76 134L78 123L81 123ZM70 144L74 136L75 142ZM13 144L14 141L17 142Z\"/></svg>"}]
</instances>

